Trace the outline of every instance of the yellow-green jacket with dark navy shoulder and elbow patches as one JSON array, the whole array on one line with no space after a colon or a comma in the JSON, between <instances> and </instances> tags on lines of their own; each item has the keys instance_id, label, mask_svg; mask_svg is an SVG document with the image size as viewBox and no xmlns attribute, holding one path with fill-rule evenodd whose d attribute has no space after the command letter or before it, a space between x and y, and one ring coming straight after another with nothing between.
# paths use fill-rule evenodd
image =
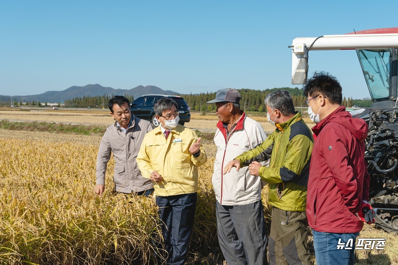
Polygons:
<instances>
[{"instance_id":1,"label":"yellow-green jacket with dark navy shoulder and elbow patches","mask_svg":"<svg viewBox=\"0 0 398 265\"><path fill-rule=\"evenodd\" d=\"M248 166L253 161L266 160L272 148L269 167L259 169L261 179L269 183L268 204L281 210L304 212L314 138L300 112L276 127L264 142L235 159L240 166Z\"/></svg>"}]
</instances>

